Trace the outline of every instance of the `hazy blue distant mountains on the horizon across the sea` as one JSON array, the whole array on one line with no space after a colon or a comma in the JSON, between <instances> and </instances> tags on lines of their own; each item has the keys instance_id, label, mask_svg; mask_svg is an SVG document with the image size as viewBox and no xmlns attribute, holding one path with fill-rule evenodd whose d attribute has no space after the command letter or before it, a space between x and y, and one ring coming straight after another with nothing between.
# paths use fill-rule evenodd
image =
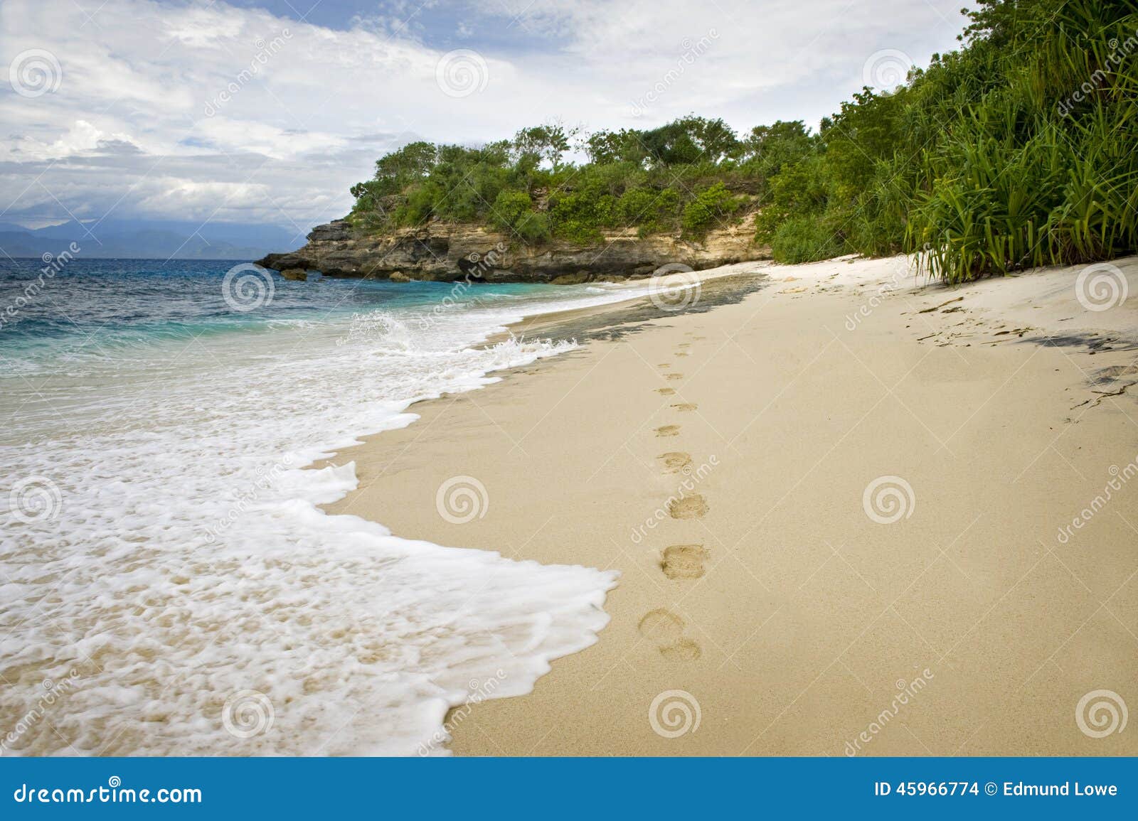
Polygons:
<instances>
[{"instance_id":1,"label":"hazy blue distant mountains on the horizon across the sea","mask_svg":"<svg viewBox=\"0 0 1138 821\"><path fill-rule=\"evenodd\" d=\"M0 223L0 259L59 254L72 242L91 258L258 259L273 250L304 244L303 231L275 225L114 219L99 224L67 222L30 230Z\"/></svg>"}]
</instances>

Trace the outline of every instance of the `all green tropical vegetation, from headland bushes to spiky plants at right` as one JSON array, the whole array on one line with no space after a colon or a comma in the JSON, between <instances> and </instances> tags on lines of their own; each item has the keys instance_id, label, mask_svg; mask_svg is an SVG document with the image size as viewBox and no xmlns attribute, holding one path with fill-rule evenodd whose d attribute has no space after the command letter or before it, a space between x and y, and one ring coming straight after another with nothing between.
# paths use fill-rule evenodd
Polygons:
<instances>
[{"instance_id":1,"label":"all green tropical vegetation, from headland bushes to spiky plants at right","mask_svg":"<svg viewBox=\"0 0 1138 821\"><path fill-rule=\"evenodd\" d=\"M822 121L739 134L525 128L414 142L355 185L366 230L486 222L530 243L692 240L754 215L781 262L917 254L959 282L1138 249L1138 0L979 0L960 48ZM575 161L575 158L579 161Z\"/></svg>"}]
</instances>

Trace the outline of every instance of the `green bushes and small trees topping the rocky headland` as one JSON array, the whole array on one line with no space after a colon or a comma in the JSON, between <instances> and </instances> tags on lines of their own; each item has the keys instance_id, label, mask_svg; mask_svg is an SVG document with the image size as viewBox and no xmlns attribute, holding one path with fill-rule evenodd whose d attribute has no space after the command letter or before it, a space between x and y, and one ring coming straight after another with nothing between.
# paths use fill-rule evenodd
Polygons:
<instances>
[{"instance_id":1,"label":"green bushes and small trees topping the rocky headland","mask_svg":"<svg viewBox=\"0 0 1138 821\"><path fill-rule=\"evenodd\" d=\"M563 161L574 144L592 161ZM417 142L382 157L374 177L352 188L349 218L368 230L486 222L531 243L596 243L604 230L648 235L678 231L682 222L701 234L735 210L726 182L753 184L753 172L745 181L735 173L745 156L723 121L694 116L587 138L544 125L478 148ZM393 194L398 204L386 208Z\"/></svg>"}]
</instances>

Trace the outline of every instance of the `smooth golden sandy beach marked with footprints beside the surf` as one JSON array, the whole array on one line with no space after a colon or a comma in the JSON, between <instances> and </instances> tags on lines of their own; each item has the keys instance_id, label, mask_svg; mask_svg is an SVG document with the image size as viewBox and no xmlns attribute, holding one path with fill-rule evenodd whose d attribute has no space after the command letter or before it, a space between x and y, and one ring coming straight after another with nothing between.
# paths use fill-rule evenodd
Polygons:
<instances>
[{"instance_id":1,"label":"smooth golden sandy beach marked with footprints beside the surf","mask_svg":"<svg viewBox=\"0 0 1138 821\"><path fill-rule=\"evenodd\" d=\"M1138 298L1088 309L1081 269L734 266L709 310L522 323L585 341L338 454L331 512L620 572L599 641L451 749L1138 754L1095 707L1138 705Z\"/></svg>"}]
</instances>

